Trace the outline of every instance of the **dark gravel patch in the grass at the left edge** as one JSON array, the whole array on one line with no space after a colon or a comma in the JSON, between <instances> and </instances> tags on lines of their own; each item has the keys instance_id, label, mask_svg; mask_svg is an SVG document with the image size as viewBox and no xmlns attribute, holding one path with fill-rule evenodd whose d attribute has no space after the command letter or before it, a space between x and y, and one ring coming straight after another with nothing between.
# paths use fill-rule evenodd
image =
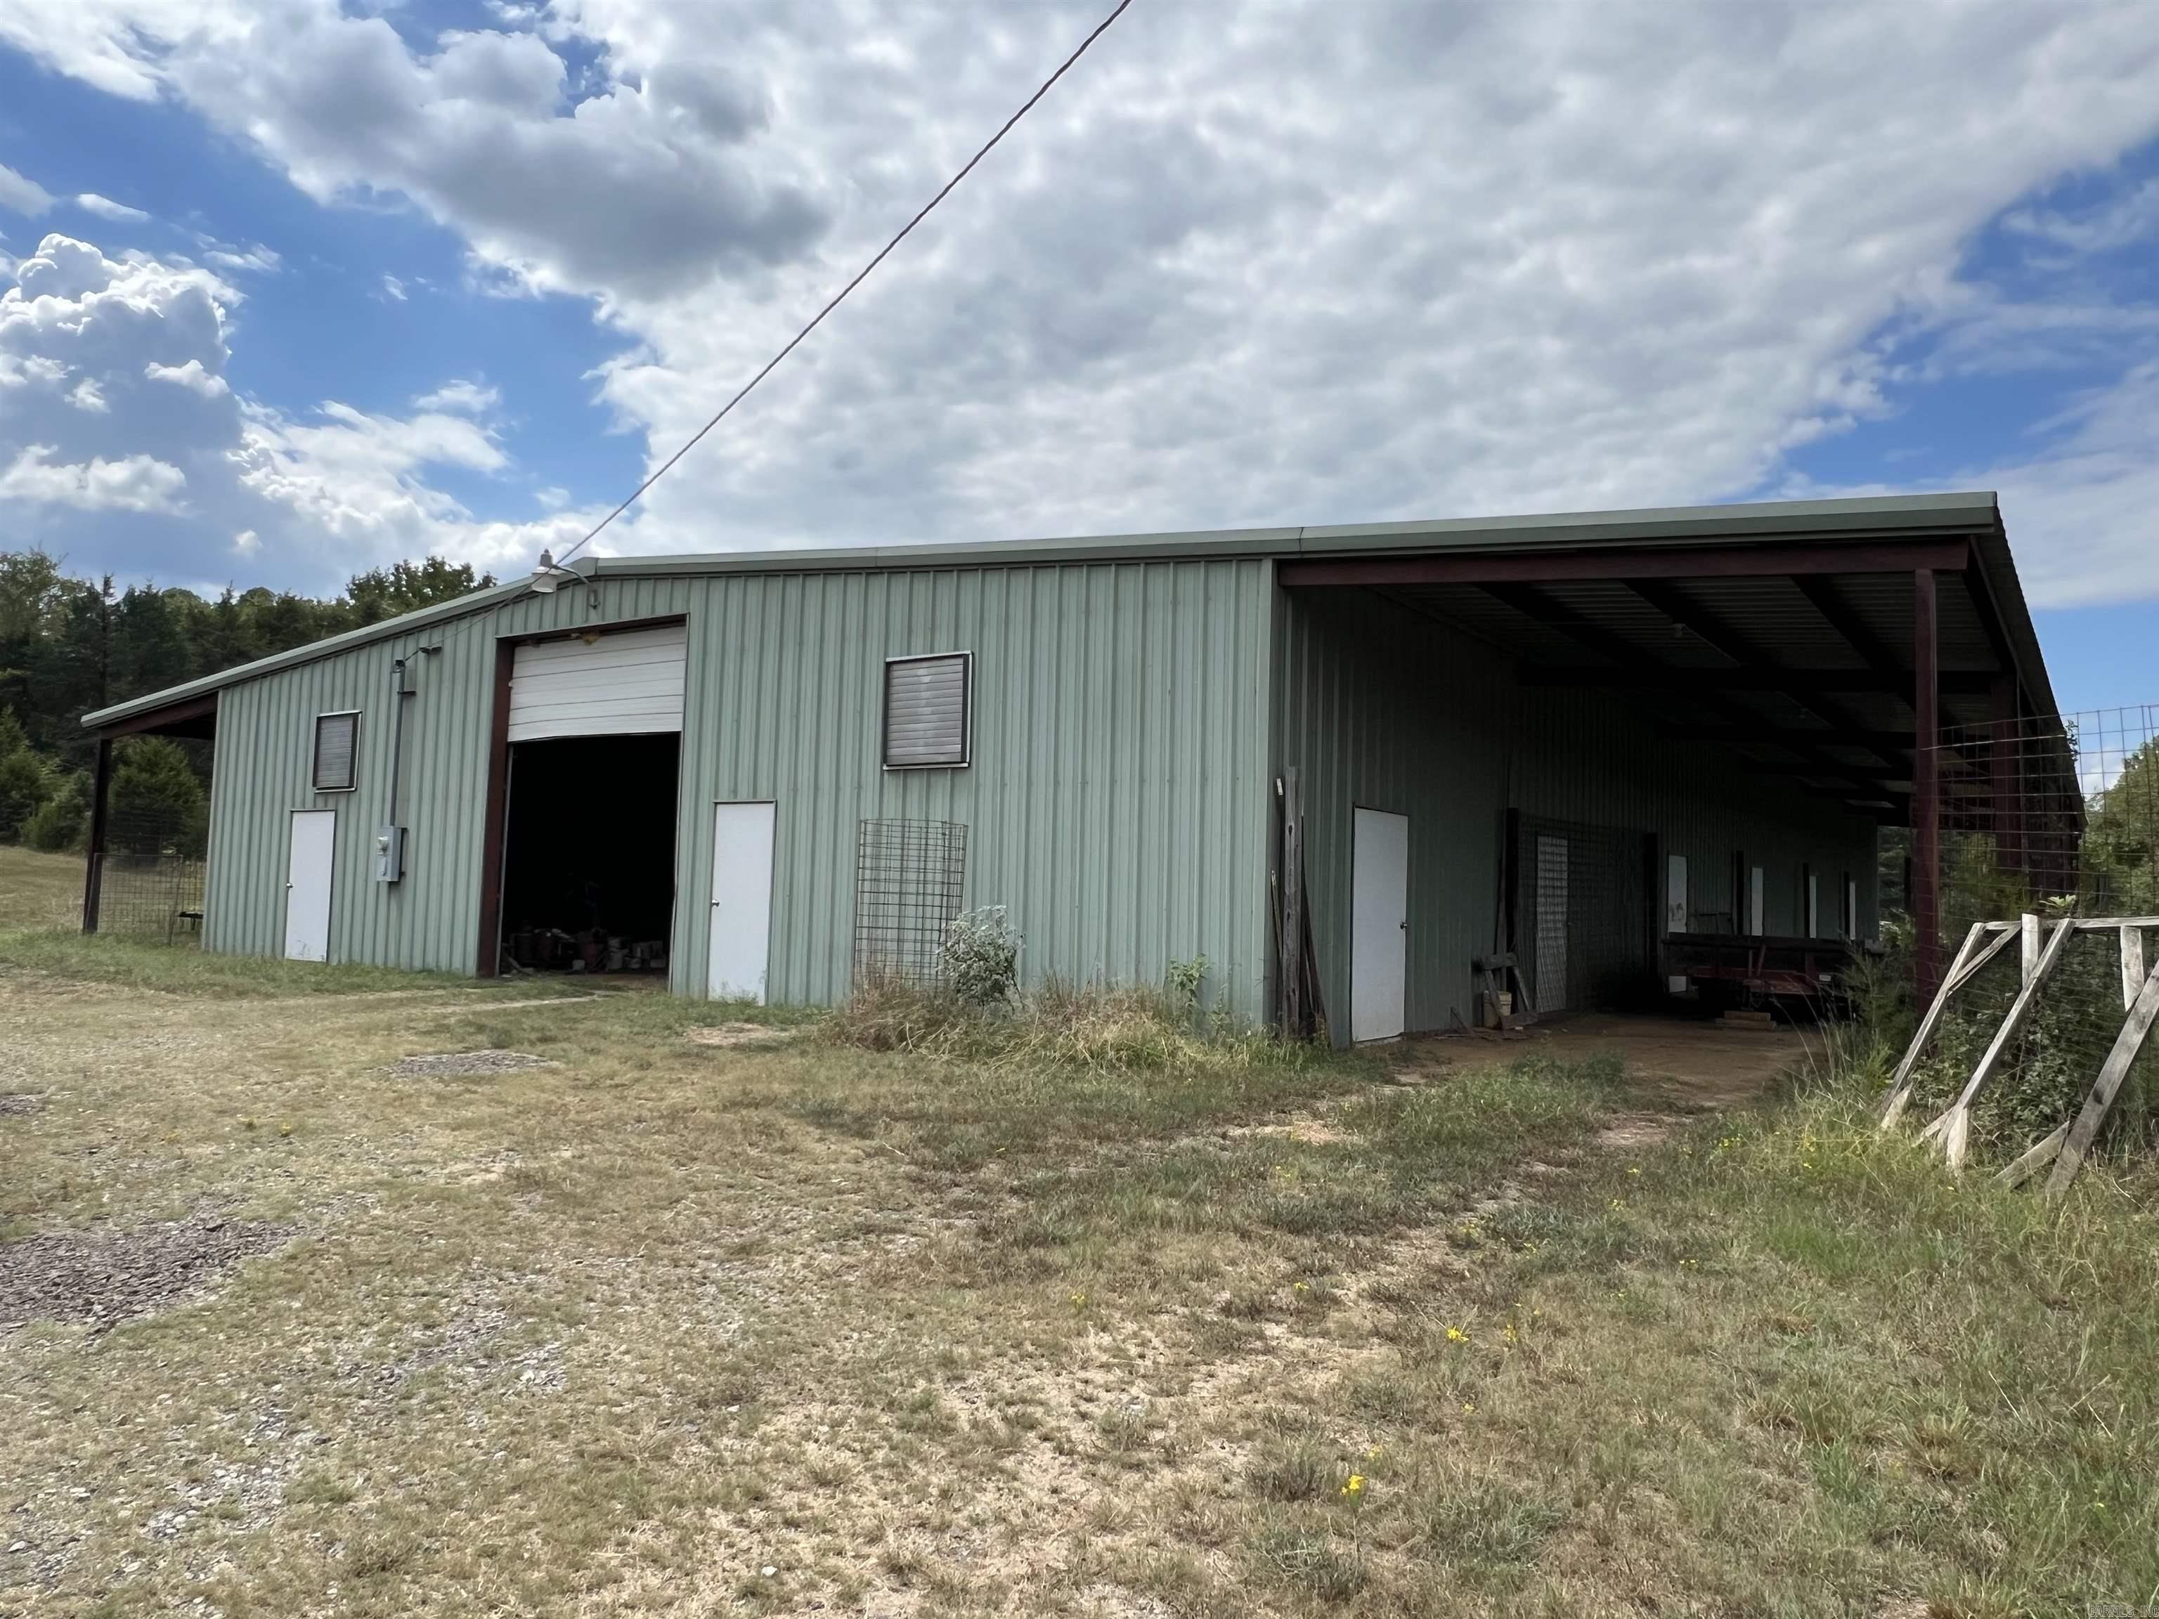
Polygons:
<instances>
[{"instance_id":1,"label":"dark gravel patch in the grass at the left edge","mask_svg":"<svg viewBox=\"0 0 2159 1619\"><path fill-rule=\"evenodd\" d=\"M291 1226L266 1220L190 1215L136 1230L56 1230L0 1243L0 1330L89 1321L101 1332L162 1310L291 1237Z\"/></svg>"}]
</instances>

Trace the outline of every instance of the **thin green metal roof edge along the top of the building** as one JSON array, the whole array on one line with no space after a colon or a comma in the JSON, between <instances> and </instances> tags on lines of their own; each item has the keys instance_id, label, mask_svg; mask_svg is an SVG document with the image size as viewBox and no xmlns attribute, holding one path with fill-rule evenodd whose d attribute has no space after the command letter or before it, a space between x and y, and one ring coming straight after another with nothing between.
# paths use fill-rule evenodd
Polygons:
<instances>
[{"instance_id":1,"label":"thin green metal roof edge along the top of the building","mask_svg":"<svg viewBox=\"0 0 2159 1619\"><path fill-rule=\"evenodd\" d=\"M1639 546L1747 546L1790 542L1863 542L1924 535L1969 535L1980 555L2001 626L2017 652L2027 689L2051 710L2053 693L2038 637L2025 611L2008 538L1993 492L1876 494L1833 501L1762 501L1747 505L1682 505L1637 512L1561 512L1425 522L1352 522L1289 529L1211 529L1192 533L1075 535L1062 540L978 540L920 546L825 546L810 550L721 550L676 557L585 557L587 579L652 574L855 572L872 568L993 568L1082 561L1155 561L1168 557L1399 557L1416 553L1580 553ZM132 697L84 715L86 730L106 730L246 680L326 658L371 641L486 611L531 587L512 579L451 602L289 648L201 680Z\"/></svg>"}]
</instances>

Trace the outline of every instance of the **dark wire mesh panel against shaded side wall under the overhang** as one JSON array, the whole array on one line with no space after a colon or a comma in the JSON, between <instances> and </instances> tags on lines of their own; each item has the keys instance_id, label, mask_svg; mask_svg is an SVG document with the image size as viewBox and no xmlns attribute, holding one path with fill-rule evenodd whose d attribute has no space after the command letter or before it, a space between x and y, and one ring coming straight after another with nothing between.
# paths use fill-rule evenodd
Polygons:
<instances>
[{"instance_id":1,"label":"dark wire mesh panel against shaded side wall under the overhang","mask_svg":"<svg viewBox=\"0 0 2159 1619\"><path fill-rule=\"evenodd\" d=\"M1641 831L1520 818L1516 958L1539 1017L1637 1006L1654 989L1647 851Z\"/></svg>"}]
</instances>

